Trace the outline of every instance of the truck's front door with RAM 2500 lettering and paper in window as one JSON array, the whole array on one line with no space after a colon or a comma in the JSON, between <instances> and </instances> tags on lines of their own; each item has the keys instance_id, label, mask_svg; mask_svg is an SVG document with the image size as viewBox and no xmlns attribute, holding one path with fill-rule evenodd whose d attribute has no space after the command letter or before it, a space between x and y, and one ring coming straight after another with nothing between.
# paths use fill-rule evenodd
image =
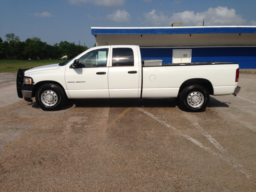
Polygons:
<instances>
[{"instance_id":1,"label":"truck's front door with RAM 2500 lettering and paper in window","mask_svg":"<svg viewBox=\"0 0 256 192\"><path fill-rule=\"evenodd\" d=\"M79 68L66 66L65 81L71 98L109 98L108 48L87 52L79 58Z\"/></svg>"}]
</instances>

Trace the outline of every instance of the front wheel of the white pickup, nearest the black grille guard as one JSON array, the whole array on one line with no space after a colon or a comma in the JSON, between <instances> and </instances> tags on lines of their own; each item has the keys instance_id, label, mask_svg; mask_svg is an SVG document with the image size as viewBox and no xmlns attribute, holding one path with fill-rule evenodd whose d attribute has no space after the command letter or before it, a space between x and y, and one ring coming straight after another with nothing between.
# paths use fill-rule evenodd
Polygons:
<instances>
[{"instance_id":1,"label":"front wheel of the white pickup, nearest the black grille guard","mask_svg":"<svg viewBox=\"0 0 256 192\"><path fill-rule=\"evenodd\" d=\"M65 102L66 93L56 84L44 84L36 91L36 103L42 110L58 110Z\"/></svg>"}]
</instances>

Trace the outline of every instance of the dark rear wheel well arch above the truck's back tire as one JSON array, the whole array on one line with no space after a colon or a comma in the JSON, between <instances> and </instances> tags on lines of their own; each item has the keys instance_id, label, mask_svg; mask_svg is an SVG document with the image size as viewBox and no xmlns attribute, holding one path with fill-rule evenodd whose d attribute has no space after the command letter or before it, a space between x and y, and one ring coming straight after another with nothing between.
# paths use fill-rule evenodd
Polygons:
<instances>
[{"instance_id":1,"label":"dark rear wheel well arch above the truck's back tire","mask_svg":"<svg viewBox=\"0 0 256 192\"><path fill-rule=\"evenodd\" d=\"M200 78L189 79L189 80L186 80L184 83L182 83L182 85L180 86L179 95L182 92L182 90L189 85L200 85L206 88L210 95L213 95L212 83L207 79L200 79Z\"/></svg>"}]
</instances>

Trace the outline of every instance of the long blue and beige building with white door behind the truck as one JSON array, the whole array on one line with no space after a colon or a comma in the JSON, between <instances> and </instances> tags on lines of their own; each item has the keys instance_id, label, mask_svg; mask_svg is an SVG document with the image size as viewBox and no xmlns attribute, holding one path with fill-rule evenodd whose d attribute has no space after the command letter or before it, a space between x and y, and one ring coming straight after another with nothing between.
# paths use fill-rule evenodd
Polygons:
<instances>
[{"instance_id":1,"label":"long blue and beige building with white door behind the truck","mask_svg":"<svg viewBox=\"0 0 256 192\"><path fill-rule=\"evenodd\" d=\"M139 45L142 59L163 63L236 62L256 68L256 26L92 27L97 46Z\"/></svg>"}]
</instances>

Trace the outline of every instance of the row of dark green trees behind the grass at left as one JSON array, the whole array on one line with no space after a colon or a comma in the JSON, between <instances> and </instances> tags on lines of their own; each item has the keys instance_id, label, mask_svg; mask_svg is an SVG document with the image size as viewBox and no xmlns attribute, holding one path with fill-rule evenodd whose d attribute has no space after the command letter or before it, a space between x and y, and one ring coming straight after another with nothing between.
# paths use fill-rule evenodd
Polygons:
<instances>
[{"instance_id":1,"label":"row of dark green trees behind the grass at left","mask_svg":"<svg viewBox=\"0 0 256 192\"><path fill-rule=\"evenodd\" d=\"M76 45L74 42L61 41L59 44L49 45L40 38L28 38L21 42L13 33L5 35L6 41L0 38L0 59L68 59L84 52L87 46Z\"/></svg>"}]
</instances>

